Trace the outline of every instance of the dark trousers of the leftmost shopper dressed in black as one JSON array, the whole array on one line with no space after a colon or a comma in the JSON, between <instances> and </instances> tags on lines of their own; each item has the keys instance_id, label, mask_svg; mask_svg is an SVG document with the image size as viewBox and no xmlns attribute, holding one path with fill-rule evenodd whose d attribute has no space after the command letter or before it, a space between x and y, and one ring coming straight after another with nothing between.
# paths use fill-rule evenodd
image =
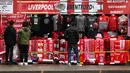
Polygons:
<instances>
[{"instance_id":1,"label":"dark trousers of the leftmost shopper dressed in black","mask_svg":"<svg viewBox=\"0 0 130 73\"><path fill-rule=\"evenodd\" d=\"M9 62L13 62L13 46L6 45L6 62L8 62L8 57L9 57Z\"/></svg>"}]
</instances>

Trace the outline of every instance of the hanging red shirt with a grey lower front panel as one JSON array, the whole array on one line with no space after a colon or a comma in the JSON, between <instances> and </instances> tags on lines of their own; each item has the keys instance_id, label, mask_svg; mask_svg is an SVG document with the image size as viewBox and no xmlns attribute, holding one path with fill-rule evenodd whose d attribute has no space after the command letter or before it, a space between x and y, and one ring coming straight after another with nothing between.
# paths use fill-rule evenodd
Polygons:
<instances>
[{"instance_id":1,"label":"hanging red shirt with a grey lower front panel","mask_svg":"<svg viewBox=\"0 0 130 73\"><path fill-rule=\"evenodd\" d=\"M99 30L106 30L108 27L109 17L102 15L98 17Z\"/></svg>"}]
</instances>

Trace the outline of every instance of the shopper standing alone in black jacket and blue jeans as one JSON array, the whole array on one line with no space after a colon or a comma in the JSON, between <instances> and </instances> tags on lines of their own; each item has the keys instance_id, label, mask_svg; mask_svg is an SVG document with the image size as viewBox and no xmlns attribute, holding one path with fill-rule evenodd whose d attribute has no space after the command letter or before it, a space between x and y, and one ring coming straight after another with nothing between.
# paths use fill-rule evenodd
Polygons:
<instances>
[{"instance_id":1,"label":"shopper standing alone in black jacket and blue jeans","mask_svg":"<svg viewBox=\"0 0 130 73\"><path fill-rule=\"evenodd\" d=\"M73 49L76 54L77 65L82 66L79 61L77 46L79 41L79 33L72 25L70 25L65 31L65 40L68 41L68 65L71 66L71 51Z\"/></svg>"}]
</instances>

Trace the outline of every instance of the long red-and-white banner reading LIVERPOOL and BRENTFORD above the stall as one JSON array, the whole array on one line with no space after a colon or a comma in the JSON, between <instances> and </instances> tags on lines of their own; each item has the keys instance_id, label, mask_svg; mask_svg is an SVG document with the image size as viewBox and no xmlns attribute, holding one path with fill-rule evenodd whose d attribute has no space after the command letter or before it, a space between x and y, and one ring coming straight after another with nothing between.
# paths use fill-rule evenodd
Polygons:
<instances>
[{"instance_id":1,"label":"long red-and-white banner reading LIVERPOOL and BRENTFORD above the stall","mask_svg":"<svg viewBox=\"0 0 130 73\"><path fill-rule=\"evenodd\" d=\"M82 1L17 1L17 13L86 14L102 12L102 2Z\"/></svg>"}]
</instances>

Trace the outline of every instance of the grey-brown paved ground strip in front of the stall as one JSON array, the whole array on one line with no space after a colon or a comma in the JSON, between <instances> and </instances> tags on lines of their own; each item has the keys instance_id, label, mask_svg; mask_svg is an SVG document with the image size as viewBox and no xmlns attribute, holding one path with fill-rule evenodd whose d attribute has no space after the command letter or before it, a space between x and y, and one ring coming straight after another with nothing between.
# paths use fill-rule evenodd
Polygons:
<instances>
[{"instance_id":1,"label":"grey-brown paved ground strip in front of the stall","mask_svg":"<svg viewBox=\"0 0 130 73\"><path fill-rule=\"evenodd\" d=\"M38 64L38 65L0 65L0 73L130 73L128 65L55 65L55 64Z\"/></svg>"}]
</instances>

